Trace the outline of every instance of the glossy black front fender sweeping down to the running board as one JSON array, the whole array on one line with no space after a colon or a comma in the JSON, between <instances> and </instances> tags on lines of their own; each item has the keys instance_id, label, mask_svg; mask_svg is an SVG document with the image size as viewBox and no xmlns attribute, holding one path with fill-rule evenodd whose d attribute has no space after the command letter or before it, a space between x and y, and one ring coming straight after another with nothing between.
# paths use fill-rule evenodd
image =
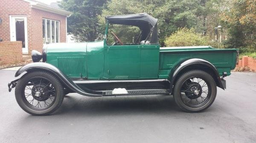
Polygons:
<instances>
[{"instance_id":1,"label":"glossy black front fender sweeping down to the running board","mask_svg":"<svg viewBox=\"0 0 256 143\"><path fill-rule=\"evenodd\" d=\"M19 70L15 73L15 77L20 76L21 73L27 72L29 74L33 71L47 71L55 75L65 86L67 86L70 90L73 90L76 93L87 96L102 96L102 92L93 91L85 88L82 90L79 86L77 86L70 78L68 78L61 70L52 64L44 63L44 62L34 62L30 64L26 64L23 67L20 67Z\"/></svg>"}]
</instances>

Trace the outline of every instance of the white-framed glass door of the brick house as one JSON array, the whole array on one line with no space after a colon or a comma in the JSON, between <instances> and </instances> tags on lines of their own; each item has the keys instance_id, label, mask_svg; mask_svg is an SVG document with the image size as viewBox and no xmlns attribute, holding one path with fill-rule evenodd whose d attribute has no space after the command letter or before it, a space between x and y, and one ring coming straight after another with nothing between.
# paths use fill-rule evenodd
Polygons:
<instances>
[{"instance_id":1,"label":"white-framed glass door of the brick house","mask_svg":"<svg viewBox=\"0 0 256 143\"><path fill-rule=\"evenodd\" d=\"M10 16L11 41L22 42L22 53L28 53L27 17Z\"/></svg>"}]
</instances>

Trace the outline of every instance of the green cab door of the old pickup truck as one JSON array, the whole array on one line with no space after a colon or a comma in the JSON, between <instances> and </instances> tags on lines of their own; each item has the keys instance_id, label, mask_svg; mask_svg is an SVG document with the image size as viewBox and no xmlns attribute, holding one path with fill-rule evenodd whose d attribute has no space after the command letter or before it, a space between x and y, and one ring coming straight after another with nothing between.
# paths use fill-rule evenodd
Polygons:
<instances>
[{"instance_id":1,"label":"green cab door of the old pickup truck","mask_svg":"<svg viewBox=\"0 0 256 143\"><path fill-rule=\"evenodd\" d=\"M140 45L108 45L105 53L106 78L140 78Z\"/></svg>"}]
</instances>

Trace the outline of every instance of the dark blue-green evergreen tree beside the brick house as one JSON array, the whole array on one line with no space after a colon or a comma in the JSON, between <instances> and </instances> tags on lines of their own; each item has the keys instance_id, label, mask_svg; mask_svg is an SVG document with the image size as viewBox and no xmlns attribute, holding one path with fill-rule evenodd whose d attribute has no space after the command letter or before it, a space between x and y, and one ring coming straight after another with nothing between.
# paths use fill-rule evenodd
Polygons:
<instances>
[{"instance_id":1,"label":"dark blue-green evergreen tree beside the brick house","mask_svg":"<svg viewBox=\"0 0 256 143\"><path fill-rule=\"evenodd\" d=\"M72 12L67 19L68 33L81 42L100 38L97 16L102 13L105 3L106 0L62 0L61 7Z\"/></svg>"}]
</instances>

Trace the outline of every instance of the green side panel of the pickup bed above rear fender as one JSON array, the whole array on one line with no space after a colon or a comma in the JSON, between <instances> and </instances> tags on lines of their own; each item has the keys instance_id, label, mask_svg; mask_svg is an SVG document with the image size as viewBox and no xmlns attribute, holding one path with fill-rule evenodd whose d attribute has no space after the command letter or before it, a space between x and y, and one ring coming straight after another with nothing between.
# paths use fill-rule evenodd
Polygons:
<instances>
[{"instance_id":1,"label":"green side panel of the pickup bed above rear fender","mask_svg":"<svg viewBox=\"0 0 256 143\"><path fill-rule=\"evenodd\" d=\"M169 79L172 69L177 64L193 58L204 59L212 63L220 76L222 72L227 72L229 76L230 71L236 67L236 49L160 50L159 78Z\"/></svg>"}]
</instances>

